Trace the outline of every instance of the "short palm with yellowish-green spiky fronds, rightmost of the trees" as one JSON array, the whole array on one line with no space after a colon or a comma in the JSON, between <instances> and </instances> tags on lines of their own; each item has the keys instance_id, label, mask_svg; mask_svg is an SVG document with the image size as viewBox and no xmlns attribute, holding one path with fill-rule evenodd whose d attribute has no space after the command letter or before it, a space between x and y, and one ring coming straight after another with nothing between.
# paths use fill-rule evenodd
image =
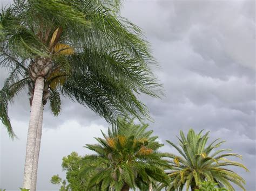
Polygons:
<instances>
[{"instance_id":1,"label":"short palm with yellowish-green spiky fronds, rightmost of the trees","mask_svg":"<svg viewBox=\"0 0 256 191\"><path fill-rule=\"evenodd\" d=\"M218 183L219 187L225 186L228 190L234 190L230 182L235 183L243 190L245 190L243 184L245 180L241 178L237 173L226 166L238 166L248 169L239 162L231 161L226 157L238 157L241 155L235 153L224 153L225 151L231 151L230 149L216 150L225 141L218 142L219 139L215 139L210 145L206 146L208 140L208 133L201 135L190 129L185 137L183 131L180 131L179 148L176 144L166 140L181 154L181 156L170 154L172 169L168 172L171 178L171 183L167 187L167 190L179 189L182 190L186 186L186 190L191 187L192 190L199 189L200 182L211 181Z\"/></svg>"}]
</instances>

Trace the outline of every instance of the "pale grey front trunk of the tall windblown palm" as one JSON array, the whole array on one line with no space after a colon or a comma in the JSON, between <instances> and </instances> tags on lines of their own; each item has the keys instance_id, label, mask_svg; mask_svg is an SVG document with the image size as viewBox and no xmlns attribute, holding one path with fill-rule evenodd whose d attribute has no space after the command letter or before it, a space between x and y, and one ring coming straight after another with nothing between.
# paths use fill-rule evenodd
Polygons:
<instances>
[{"instance_id":1,"label":"pale grey front trunk of the tall windblown palm","mask_svg":"<svg viewBox=\"0 0 256 191\"><path fill-rule=\"evenodd\" d=\"M39 117L41 113L41 105L44 90L44 77L37 77L35 82L35 90L33 94L33 100L30 111L30 121L28 138L26 140L26 157L24 168L24 181L23 188L31 189L31 178L33 170L33 158L36 147L37 126L39 123Z\"/></svg>"}]
</instances>

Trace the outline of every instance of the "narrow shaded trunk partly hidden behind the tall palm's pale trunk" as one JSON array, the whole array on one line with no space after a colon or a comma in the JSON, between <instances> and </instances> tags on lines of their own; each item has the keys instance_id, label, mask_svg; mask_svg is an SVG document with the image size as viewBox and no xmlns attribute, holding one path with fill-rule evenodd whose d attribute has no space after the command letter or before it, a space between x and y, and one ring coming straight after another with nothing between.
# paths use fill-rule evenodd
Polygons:
<instances>
[{"instance_id":1,"label":"narrow shaded trunk partly hidden behind the tall palm's pale trunk","mask_svg":"<svg viewBox=\"0 0 256 191\"><path fill-rule=\"evenodd\" d=\"M31 191L36 190L36 182L37 182L37 169L38 169L38 160L39 160L39 152L41 145L41 137L42 137L42 127L43 127L43 114L44 114L44 105L41 105L39 122L37 126L37 136L36 136L36 146L35 153L33 159L33 169L32 169L32 178L31 178Z\"/></svg>"}]
</instances>

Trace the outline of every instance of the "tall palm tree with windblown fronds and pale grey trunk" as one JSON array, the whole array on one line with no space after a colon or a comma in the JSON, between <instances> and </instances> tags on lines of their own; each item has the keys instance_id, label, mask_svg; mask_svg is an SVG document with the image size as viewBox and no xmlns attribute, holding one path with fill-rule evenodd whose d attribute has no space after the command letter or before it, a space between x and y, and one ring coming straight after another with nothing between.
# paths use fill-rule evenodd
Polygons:
<instances>
[{"instance_id":1,"label":"tall palm tree with windblown fronds and pale grey trunk","mask_svg":"<svg viewBox=\"0 0 256 191\"><path fill-rule=\"evenodd\" d=\"M142 31L119 16L118 0L15 0L1 15L1 67L10 70L0 93L0 117L13 138L8 102L27 88L30 122L24 188L36 189L43 108L60 111L60 95L107 122L119 115L149 118L137 94L158 97L159 84Z\"/></svg>"}]
</instances>

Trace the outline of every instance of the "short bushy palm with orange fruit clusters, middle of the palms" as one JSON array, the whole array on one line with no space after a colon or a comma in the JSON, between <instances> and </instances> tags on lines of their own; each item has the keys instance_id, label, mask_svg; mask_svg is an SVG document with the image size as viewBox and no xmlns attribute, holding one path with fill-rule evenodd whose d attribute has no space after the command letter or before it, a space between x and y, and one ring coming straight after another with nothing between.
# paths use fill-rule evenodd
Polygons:
<instances>
[{"instance_id":1,"label":"short bushy palm with orange fruit clusters, middle of the palms","mask_svg":"<svg viewBox=\"0 0 256 191\"><path fill-rule=\"evenodd\" d=\"M100 190L149 190L156 187L154 182L168 182L164 169L170 166L163 158L166 153L158 152L163 144L147 128L148 125L134 125L119 118L108 135L102 132L104 139L96 138L99 144L85 146L97 153L83 159L85 164L91 164L82 173L85 179L93 172L87 181L88 190L96 186Z\"/></svg>"}]
</instances>

